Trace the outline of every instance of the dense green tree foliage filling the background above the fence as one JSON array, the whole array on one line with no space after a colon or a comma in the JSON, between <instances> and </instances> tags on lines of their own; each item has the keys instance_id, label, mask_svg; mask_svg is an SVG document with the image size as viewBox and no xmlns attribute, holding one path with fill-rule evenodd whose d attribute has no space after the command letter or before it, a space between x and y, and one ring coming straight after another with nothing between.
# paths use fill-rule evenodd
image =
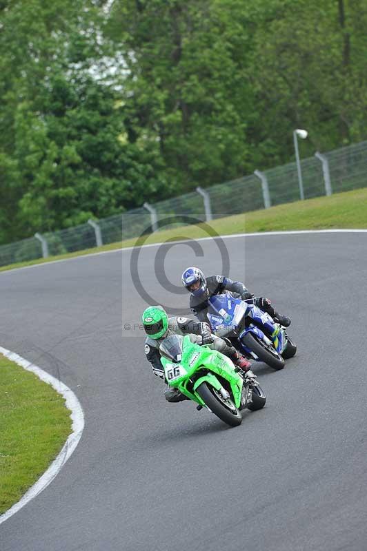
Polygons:
<instances>
[{"instance_id":1,"label":"dense green tree foliage filling the background above the fence","mask_svg":"<svg viewBox=\"0 0 367 551\"><path fill-rule=\"evenodd\" d=\"M0 0L0 242L366 139L367 0Z\"/></svg>"}]
</instances>

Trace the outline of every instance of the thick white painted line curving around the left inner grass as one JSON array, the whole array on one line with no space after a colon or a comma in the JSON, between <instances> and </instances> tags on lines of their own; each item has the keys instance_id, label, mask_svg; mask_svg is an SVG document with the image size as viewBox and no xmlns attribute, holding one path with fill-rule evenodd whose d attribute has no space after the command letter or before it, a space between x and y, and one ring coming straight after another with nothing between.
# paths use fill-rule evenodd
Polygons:
<instances>
[{"instance_id":1,"label":"thick white painted line curving around the left inner grass","mask_svg":"<svg viewBox=\"0 0 367 551\"><path fill-rule=\"evenodd\" d=\"M28 360L25 360L23 357L17 355L14 352L11 352L10 350L3 349L1 346L0 353L8 357L8 359L12 360L12 362L15 362L19 366L26 369L27 371L32 371L32 373L37 375L39 379L50 384L54 388L54 390L57 391L57 393L61 394L66 399L66 407L71 411L70 417L72 419L72 433L66 440L57 458L52 461L52 464L50 465L48 470L46 470L41 478L37 480L36 484L34 484L23 495L20 501L14 503L14 505L10 509L8 509L4 514L0 515L1 524L8 518L12 517L14 513L19 511L19 509L25 506L28 501L30 501L34 497L37 497L37 495L39 495L45 488L47 488L48 484L52 482L54 477L56 477L56 475L61 470L61 467L66 463L66 461L68 461L70 455L72 455L73 451L79 443L79 440L81 439L81 434L83 433L84 428L84 415L79 400L70 390L70 388L66 386L66 384L63 384L63 382L55 379L55 377L52 377L52 375L46 373L46 371L43 371L43 369L32 364L32 362L28 362Z\"/></svg>"}]
</instances>

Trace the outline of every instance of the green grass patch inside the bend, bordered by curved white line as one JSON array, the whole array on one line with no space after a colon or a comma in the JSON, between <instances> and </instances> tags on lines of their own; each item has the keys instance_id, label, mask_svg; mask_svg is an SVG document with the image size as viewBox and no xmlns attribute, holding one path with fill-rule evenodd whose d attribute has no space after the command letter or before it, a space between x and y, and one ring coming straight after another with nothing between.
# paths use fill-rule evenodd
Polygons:
<instances>
[{"instance_id":1,"label":"green grass patch inside the bend, bordered by curved white line","mask_svg":"<svg viewBox=\"0 0 367 551\"><path fill-rule=\"evenodd\" d=\"M0 354L0 514L46 471L71 433L52 386Z\"/></svg>"}]
</instances>

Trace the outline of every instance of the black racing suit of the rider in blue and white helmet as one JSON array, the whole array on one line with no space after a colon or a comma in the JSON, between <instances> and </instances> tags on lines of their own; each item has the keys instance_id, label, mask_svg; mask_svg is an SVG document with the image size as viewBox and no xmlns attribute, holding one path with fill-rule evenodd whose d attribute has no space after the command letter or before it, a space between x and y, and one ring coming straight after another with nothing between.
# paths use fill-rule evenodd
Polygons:
<instances>
[{"instance_id":1,"label":"black racing suit of the rider in blue and white helmet","mask_svg":"<svg viewBox=\"0 0 367 551\"><path fill-rule=\"evenodd\" d=\"M208 296L205 300L190 295L190 309L201 322L208 321L208 298L212 295L219 295L224 291L230 291L235 298L241 298L242 300L248 300L254 296L248 291L243 283L224 278L223 275L210 275L206 278L206 286L208 289ZM272 318L277 317L277 312L272 307L268 298L255 297L253 298L253 302L256 306L259 306L261 310L270 314Z\"/></svg>"}]
</instances>

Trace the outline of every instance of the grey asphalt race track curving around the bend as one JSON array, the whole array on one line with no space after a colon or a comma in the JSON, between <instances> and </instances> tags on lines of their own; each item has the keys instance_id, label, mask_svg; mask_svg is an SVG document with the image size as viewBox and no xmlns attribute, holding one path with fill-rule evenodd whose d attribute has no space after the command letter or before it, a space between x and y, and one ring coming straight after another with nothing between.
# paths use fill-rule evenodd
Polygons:
<instances>
[{"instance_id":1,"label":"grey asphalt race track curving around the bend","mask_svg":"<svg viewBox=\"0 0 367 551\"><path fill-rule=\"evenodd\" d=\"M146 302L131 251L0 273L1 346L86 417L56 479L0 526L1 551L367 549L367 233L225 242L232 278L292 317L299 346L283 371L255 366L266 407L237 428L164 400L133 329ZM215 242L200 245L168 251L171 283L192 264L221 272ZM185 314L188 295L157 282L159 250L141 251L141 282Z\"/></svg>"}]
</instances>

